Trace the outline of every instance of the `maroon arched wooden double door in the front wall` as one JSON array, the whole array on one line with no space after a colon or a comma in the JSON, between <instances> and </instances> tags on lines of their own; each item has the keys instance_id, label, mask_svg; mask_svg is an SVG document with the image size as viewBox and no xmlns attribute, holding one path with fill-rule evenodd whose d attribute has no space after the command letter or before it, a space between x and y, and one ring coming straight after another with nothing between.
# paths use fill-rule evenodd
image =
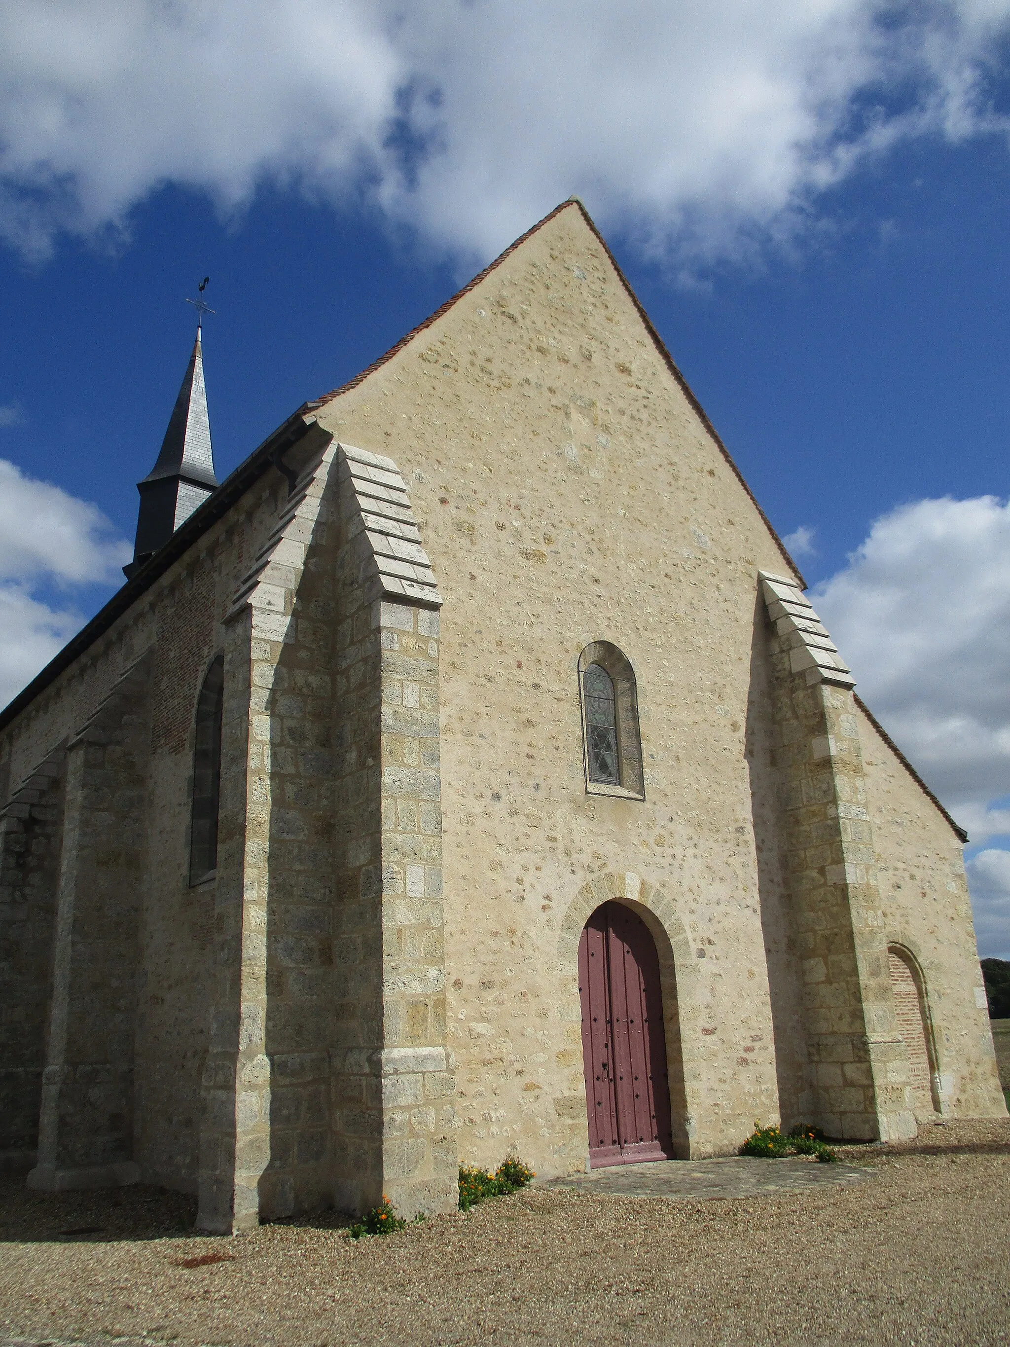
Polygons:
<instances>
[{"instance_id":1,"label":"maroon arched wooden double door in the front wall","mask_svg":"<svg viewBox=\"0 0 1010 1347\"><path fill-rule=\"evenodd\" d=\"M590 1165L673 1158L660 960L621 902L597 908L579 940Z\"/></svg>"}]
</instances>

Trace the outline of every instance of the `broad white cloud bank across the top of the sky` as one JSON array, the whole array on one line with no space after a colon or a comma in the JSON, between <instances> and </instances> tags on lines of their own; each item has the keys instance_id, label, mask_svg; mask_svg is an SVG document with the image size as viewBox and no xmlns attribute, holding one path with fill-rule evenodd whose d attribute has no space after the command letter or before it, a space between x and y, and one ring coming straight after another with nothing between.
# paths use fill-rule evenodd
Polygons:
<instances>
[{"instance_id":1,"label":"broad white cloud bank across the top of the sky","mask_svg":"<svg viewBox=\"0 0 1010 1347\"><path fill-rule=\"evenodd\" d=\"M489 256L570 193L644 247L781 236L867 154L998 124L1010 0L19 0L0 229L44 253L167 180L369 199Z\"/></svg>"}]
</instances>

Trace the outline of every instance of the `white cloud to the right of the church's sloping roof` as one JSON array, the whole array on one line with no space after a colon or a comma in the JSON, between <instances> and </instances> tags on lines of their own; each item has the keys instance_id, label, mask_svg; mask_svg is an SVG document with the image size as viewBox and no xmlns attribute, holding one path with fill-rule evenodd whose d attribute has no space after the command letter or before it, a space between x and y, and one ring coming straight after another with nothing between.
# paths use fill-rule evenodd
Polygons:
<instances>
[{"instance_id":1,"label":"white cloud to the right of the church's sloping roof","mask_svg":"<svg viewBox=\"0 0 1010 1347\"><path fill-rule=\"evenodd\" d=\"M859 692L972 842L1010 834L1010 502L901 505L812 599ZM982 851L968 880L979 950L999 956L1010 853Z\"/></svg>"}]
</instances>

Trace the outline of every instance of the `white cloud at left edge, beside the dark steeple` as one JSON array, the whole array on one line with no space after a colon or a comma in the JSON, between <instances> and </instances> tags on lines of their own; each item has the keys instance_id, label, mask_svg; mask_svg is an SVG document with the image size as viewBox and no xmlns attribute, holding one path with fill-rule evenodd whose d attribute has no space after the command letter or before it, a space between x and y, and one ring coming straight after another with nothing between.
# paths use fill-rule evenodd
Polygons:
<instances>
[{"instance_id":1,"label":"white cloud at left edge, beside the dark steeple","mask_svg":"<svg viewBox=\"0 0 1010 1347\"><path fill-rule=\"evenodd\" d=\"M73 587L121 583L131 555L97 505L0 458L0 707L83 625ZM54 585L57 607L40 597Z\"/></svg>"}]
</instances>

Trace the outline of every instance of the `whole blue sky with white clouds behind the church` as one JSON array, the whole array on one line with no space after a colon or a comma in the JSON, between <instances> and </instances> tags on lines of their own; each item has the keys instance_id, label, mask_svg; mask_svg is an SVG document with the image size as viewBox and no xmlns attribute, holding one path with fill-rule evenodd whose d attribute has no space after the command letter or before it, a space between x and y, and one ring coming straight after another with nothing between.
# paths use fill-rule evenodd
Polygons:
<instances>
[{"instance_id":1,"label":"whole blue sky with white clouds behind the church","mask_svg":"<svg viewBox=\"0 0 1010 1347\"><path fill-rule=\"evenodd\" d=\"M0 16L3 692L116 583L203 275L224 477L578 191L1010 958L1010 4L591 8Z\"/></svg>"}]
</instances>

